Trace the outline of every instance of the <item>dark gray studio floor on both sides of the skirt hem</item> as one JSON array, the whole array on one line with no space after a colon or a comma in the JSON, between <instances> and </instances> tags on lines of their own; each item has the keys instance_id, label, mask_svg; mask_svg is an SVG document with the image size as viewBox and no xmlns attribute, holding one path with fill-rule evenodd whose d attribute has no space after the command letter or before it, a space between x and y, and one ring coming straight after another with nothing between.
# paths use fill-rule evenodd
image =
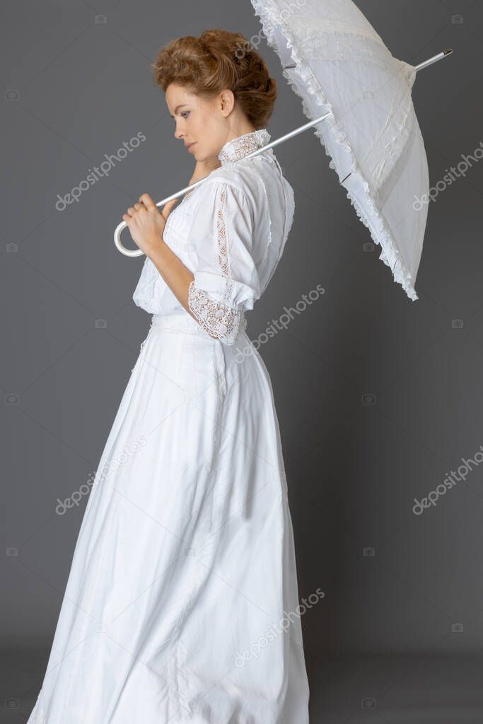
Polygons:
<instances>
[{"instance_id":1,"label":"dark gray studio floor on both sides of the skirt hem","mask_svg":"<svg viewBox=\"0 0 483 724\"><path fill-rule=\"evenodd\" d=\"M12 652L4 660L2 698L7 692L19 699L19 706L6 710L2 701L1 724L27 722L45 668L46 654ZM310 658L308 670L310 724L483 723L483 661L479 652L473 657L351 656L330 665Z\"/></svg>"}]
</instances>

